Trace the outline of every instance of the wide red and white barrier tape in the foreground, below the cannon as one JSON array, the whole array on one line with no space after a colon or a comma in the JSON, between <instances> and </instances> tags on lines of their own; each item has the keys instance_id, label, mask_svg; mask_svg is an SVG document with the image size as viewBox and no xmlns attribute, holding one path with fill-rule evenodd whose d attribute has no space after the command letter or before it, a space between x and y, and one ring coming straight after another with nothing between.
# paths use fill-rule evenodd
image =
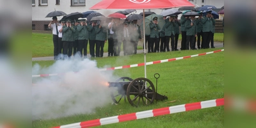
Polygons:
<instances>
[{"instance_id":1,"label":"wide red and white barrier tape in the foreground, below the cannon","mask_svg":"<svg viewBox=\"0 0 256 128\"><path fill-rule=\"evenodd\" d=\"M138 120L141 118L167 115L167 114L172 114L172 113L180 113L183 111L192 111L192 110L196 110L196 109L211 108L211 107L223 106L223 105L224 105L224 99L206 100L206 101L202 101L202 102L182 104L179 106L171 106L171 107L166 107L166 108L141 111L138 113L130 113L130 114L126 114L126 115L111 116L111 117L100 118L100 119L96 119L96 120L88 120L85 122L61 125L61 126L53 127L53 128L95 127L95 126L99 126L99 125L114 124L114 123L118 123L118 122L126 122L129 120Z\"/></svg>"}]
</instances>

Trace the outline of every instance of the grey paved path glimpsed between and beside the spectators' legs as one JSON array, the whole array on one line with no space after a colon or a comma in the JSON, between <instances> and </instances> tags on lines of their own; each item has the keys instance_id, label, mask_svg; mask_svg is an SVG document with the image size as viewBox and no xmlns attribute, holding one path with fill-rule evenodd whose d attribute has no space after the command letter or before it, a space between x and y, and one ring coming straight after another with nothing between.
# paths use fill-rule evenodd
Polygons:
<instances>
[{"instance_id":1,"label":"grey paved path glimpsed between and beside the spectators' legs","mask_svg":"<svg viewBox=\"0 0 256 128\"><path fill-rule=\"evenodd\" d=\"M142 47L143 43L140 42L138 45L140 45ZM178 47L180 47L180 40L178 42ZM223 43L222 42L214 42L214 47L223 47ZM214 51L214 49L212 49L212 51ZM141 53L143 53L143 49L140 49L137 51L137 54L141 54ZM88 54L87 56L88 56L88 58L90 58L90 54ZM124 56L123 51L120 52L120 56ZM108 52L104 52L103 57L108 57ZM53 56L32 58L32 61L47 61L47 60L53 60Z\"/></svg>"}]
</instances>

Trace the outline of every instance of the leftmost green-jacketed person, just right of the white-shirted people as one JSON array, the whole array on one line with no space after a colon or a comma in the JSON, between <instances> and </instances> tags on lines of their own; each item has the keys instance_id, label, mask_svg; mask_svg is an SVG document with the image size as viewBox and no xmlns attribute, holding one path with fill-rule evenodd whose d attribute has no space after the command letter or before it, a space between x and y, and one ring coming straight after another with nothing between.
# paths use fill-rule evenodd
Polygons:
<instances>
[{"instance_id":1,"label":"leftmost green-jacketed person, just right of the white-shirted people","mask_svg":"<svg viewBox=\"0 0 256 128\"><path fill-rule=\"evenodd\" d=\"M74 26L71 25L71 20L66 20L66 26L63 26L63 55L64 59L72 56L73 43L75 41L73 33L76 32Z\"/></svg>"}]
</instances>

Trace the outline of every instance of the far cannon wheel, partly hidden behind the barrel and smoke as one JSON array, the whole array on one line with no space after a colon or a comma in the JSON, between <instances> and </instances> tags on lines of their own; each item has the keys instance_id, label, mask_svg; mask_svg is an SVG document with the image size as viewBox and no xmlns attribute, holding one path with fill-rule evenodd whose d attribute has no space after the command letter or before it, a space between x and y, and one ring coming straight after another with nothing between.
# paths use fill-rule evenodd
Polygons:
<instances>
[{"instance_id":1,"label":"far cannon wheel, partly hidden behind the barrel and smoke","mask_svg":"<svg viewBox=\"0 0 256 128\"><path fill-rule=\"evenodd\" d=\"M116 82L121 82L121 81L124 82L124 81L132 81L132 80L133 79L131 79L130 77L120 77L120 78L116 79ZM124 93L122 93L122 92L118 91L118 88L115 88L111 92L111 99L116 104L118 104L122 98L124 98L124 100L125 100L125 97L126 97L126 90L124 90Z\"/></svg>"}]
</instances>

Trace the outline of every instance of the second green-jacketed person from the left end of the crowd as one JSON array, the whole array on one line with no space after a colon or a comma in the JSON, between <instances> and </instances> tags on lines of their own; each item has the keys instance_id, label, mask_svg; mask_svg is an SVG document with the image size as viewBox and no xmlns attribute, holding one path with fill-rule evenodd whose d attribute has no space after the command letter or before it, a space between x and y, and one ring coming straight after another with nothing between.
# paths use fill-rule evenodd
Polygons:
<instances>
[{"instance_id":1,"label":"second green-jacketed person from the left end of the crowd","mask_svg":"<svg viewBox=\"0 0 256 128\"><path fill-rule=\"evenodd\" d=\"M88 32L89 26L85 19L80 20L80 24L77 25L76 30L78 31L78 47L80 56L87 58L87 45L88 45Z\"/></svg>"}]
</instances>

